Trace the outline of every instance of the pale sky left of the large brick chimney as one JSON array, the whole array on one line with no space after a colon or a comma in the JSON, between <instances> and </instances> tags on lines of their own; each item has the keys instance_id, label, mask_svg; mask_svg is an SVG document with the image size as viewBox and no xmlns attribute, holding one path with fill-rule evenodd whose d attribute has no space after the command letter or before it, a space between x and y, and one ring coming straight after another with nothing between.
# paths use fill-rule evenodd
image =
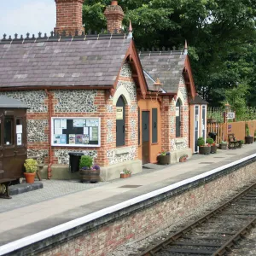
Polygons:
<instances>
[{"instance_id":1,"label":"pale sky left of the large brick chimney","mask_svg":"<svg viewBox=\"0 0 256 256\"><path fill-rule=\"evenodd\" d=\"M55 0L0 0L0 39L17 33L38 36L53 31L56 23Z\"/></svg>"}]
</instances>

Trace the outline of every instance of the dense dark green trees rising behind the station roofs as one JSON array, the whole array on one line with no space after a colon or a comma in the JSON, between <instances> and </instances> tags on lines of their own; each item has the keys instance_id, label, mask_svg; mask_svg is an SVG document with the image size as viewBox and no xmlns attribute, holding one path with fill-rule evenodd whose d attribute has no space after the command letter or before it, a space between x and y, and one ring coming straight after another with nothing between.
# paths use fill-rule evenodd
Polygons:
<instances>
[{"instance_id":1,"label":"dense dark green trees rising behind the station roofs","mask_svg":"<svg viewBox=\"0 0 256 256\"><path fill-rule=\"evenodd\" d=\"M106 29L103 11L109 3L85 1L87 30ZM256 1L123 0L119 5L124 26L132 22L137 48L183 48L187 39L196 87L212 106L220 106L225 91L245 80L251 92L247 102L256 102Z\"/></svg>"}]
</instances>

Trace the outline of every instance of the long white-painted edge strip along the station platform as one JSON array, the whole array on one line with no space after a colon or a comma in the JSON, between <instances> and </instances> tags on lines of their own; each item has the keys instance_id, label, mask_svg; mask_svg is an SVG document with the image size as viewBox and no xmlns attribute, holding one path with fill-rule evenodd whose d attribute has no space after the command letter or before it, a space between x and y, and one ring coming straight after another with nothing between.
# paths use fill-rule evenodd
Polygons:
<instances>
[{"instance_id":1,"label":"long white-painted edge strip along the station platform","mask_svg":"<svg viewBox=\"0 0 256 256\"><path fill-rule=\"evenodd\" d=\"M67 230L72 230L73 228L76 228L79 225L89 223L90 221L93 221L96 218L101 218L101 217L103 217L107 214L111 214L113 212L120 211L120 210L122 210L126 207L131 207L131 206L133 206L137 203L140 203L140 202L146 201L150 198L153 198L154 196L161 195L161 194L166 193L166 192L168 192L172 189L177 189L178 187L183 186L185 184L192 183L192 182L195 182L196 180L203 179L203 178L208 177L208 176L210 176L214 173L221 172L224 169L230 168L232 166L236 166L238 164L241 164L242 162L253 159L255 157L256 157L256 154L251 154L247 157L242 158L241 160L236 160L236 161L234 161L230 164L220 166L218 168L215 168L211 171L202 173L202 174L197 175L195 177L190 177L190 178L185 179L181 182L177 182L177 183L174 183L172 185L166 186L165 188L157 189L157 190L154 190L150 193L137 196L137 197L135 197L131 200L121 202L117 205L114 205L112 207L107 207L105 209L102 209L102 210L94 212L94 213L90 213L90 214L88 214L88 215L86 215L82 218L74 219L74 220L69 221L65 224L61 224L61 225L58 225L54 228L50 228L49 230L44 230L44 231L38 232L37 234L34 234L32 236L27 236L27 237L24 237L24 238L19 239L17 241L9 242L8 244L3 245L2 247L0 247L0 255L14 252L15 250L18 250L22 247L26 247L26 246L29 246L29 245L35 243L35 242L42 241L42 240L47 239L51 236L58 235L61 232L65 232Z\"/></svg>"}]
</instances>

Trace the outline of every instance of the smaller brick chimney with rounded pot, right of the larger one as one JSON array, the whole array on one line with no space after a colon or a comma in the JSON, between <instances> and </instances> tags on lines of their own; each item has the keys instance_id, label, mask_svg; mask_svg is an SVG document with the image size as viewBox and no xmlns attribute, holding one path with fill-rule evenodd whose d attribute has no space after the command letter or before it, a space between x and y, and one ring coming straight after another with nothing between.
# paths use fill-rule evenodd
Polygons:
<instances>
[{"instance_id":1,"label":"smaller brick chimney with rounded pot, right of the larger one","mask_svg":"<svg viewBox=\"0 0 256 256\"><path fill-rule=\"evenodd\" d=\"M125 14L117 1L112 1L111 5L106 7L104 15L107 18L108 31L113 33L116 29L120 32Z\"/></svg>"}]
</instances>

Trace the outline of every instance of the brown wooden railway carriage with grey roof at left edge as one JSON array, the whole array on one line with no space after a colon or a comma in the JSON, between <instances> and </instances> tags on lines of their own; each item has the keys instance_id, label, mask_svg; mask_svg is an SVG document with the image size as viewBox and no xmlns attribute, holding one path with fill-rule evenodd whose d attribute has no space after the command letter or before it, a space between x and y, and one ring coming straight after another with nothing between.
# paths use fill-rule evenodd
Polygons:
<instances>
[{"instance_id":1,"label":"brown wooden railway carriage with grey roof at left edge","mask_svg":"<svg viewBox=\"0 0 256 256\"><path fill-rule=\"evenodd\" d=\"M26 104L0 96L0 196L23 176L26 160Z\"/></svg>"}]
</instances>

